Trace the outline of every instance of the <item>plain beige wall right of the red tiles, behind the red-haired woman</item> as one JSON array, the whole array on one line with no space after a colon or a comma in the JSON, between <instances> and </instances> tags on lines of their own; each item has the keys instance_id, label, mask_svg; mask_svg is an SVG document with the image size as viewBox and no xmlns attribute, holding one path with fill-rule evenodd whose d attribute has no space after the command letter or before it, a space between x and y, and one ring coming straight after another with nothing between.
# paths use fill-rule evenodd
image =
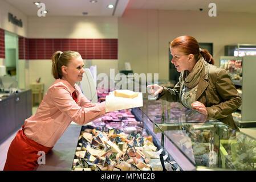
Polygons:
<instances>
[{"instance_id":1,"label":"plain beige wall right of the red tiles, behind the red-haired woman","mask_svg":"<svg viewBox=\"0 0 256 182\"><path fill-rule=\"evenodd\" d=\"M118 20L119 69L129 61L133 72L159 73L169 78L168 45L177 36L194 36L213 43L213 57L220 65L224 46L256 43L256 14L204 11L125 10ZM143 65L143 66L141 66Z\"/></svg>"}]
</instances>

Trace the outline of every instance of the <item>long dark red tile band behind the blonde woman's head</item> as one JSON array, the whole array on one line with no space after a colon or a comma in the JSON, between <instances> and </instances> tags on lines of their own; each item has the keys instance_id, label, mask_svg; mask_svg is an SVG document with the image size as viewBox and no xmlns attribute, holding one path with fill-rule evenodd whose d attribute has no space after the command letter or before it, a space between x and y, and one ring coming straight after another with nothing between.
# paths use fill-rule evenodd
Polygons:
<instances>
[{"instance_id":1,"label":"long dark red tile band behind the blonde woman's head","mask_svg":"<svg viewBox=\"0 0 256 182\"><path fill-rule=\"evenodd\" d=\"M78 51L83 59L117 59L117 39L19 38L19 59L51 59L55 51Z\"/></svg>"}]
</instances>

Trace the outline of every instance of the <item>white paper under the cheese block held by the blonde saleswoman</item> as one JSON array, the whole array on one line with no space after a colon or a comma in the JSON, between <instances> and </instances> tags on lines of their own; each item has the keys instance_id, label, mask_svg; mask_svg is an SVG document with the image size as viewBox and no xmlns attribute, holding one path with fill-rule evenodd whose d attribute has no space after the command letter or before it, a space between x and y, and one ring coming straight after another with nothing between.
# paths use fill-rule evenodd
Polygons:
<instances>
[{"instance_id":1,"label":"white paper under the cheese block held by the blonde saleswoman","mask_svg":"<svg viewBox=\"0 0 256 182\"><path fill-rule=\"evenodd\" d=\"M143 97L141 92L135 98L115 97L114 94L109 94L105 99L105 111L111 112L115 110L130 109L133 107L143 106Z\"/></svg>"}]
</instances>

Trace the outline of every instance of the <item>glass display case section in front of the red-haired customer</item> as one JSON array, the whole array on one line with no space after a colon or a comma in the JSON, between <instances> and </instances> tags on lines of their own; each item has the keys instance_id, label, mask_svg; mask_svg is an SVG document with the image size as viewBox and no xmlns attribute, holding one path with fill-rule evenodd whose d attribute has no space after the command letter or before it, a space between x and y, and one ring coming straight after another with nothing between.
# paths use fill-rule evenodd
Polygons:
<instances>
[{"instance_id":1,"label":"glass display case section in front of the red-haired customer","mask_svg":"<svg viewBox=\"0 0 256 182\"><path fill-rule=\"evenodd\" d=\"M133 109L182 170L255 170L256 139L180 103L144 99Z\"/></svg>"}]
</instances>

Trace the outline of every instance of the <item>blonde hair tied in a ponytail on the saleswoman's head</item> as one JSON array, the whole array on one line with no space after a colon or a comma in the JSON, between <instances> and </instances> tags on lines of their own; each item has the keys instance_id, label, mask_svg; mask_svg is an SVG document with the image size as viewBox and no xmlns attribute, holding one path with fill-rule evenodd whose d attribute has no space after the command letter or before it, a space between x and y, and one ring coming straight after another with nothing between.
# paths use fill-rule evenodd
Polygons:
<instances>
[{"instance_id":1,"label":"blonde hair tied in a ponytail on the saleswoman's head","mask_svg":"<svg viewBox=\"0 0 256 182\"><path fill-rule=\"evenodd\" d=\"M52 61L52 68L51 68L51 73L52 76L54 76L55 79L62 78L63 73L62 73L62 66L68 65L69 61L71 59L74 59L76 57L81 56L79 52L75 51L56 51L51 57Z\"/></svg>"}]
</instances>

